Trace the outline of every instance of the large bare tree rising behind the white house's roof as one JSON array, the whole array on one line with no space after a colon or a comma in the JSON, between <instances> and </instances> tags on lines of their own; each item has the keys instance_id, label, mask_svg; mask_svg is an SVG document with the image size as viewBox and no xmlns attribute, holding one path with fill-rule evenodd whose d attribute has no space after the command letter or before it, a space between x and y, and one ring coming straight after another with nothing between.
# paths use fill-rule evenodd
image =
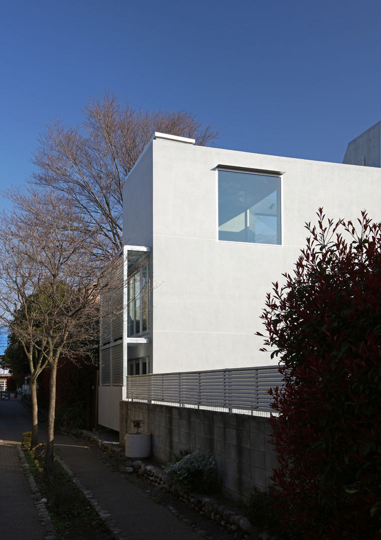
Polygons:
<instances>
[{"instance_id":1,"label":"large bare tree rising behind the white house's roof","mask_svg":"<svg viewBox=\"0 0 381 540\"><path fill-rule=\"evenodd\" d=\"M86 103L77 126L56 120L39 138L33 183L73 200L90 229L101 234L94 246L100 257L110 259L123 245L123 184L155 131L191 137L200 145L218 136L189 112L136 110L104 93Z\"/></svg>"}]
</instances>

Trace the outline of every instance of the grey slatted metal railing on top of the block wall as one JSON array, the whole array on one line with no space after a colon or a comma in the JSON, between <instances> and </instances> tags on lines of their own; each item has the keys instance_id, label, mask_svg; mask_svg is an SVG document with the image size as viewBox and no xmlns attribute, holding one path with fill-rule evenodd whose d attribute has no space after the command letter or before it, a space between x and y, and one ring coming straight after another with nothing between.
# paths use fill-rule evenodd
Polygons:
<instances>
[{"instance_id":1,"label":"grey slatted metal railing on top of the block wall","mask_svg":"<svg viewBox=\"0 0 381 540\"><path fill-rule=\"evenodd\" d=\"M216 369L202 372L130 375L126 399L180 407L257 414L270 413L268 390L282 386L278 366Z\"/></svg>"}]
</instances>

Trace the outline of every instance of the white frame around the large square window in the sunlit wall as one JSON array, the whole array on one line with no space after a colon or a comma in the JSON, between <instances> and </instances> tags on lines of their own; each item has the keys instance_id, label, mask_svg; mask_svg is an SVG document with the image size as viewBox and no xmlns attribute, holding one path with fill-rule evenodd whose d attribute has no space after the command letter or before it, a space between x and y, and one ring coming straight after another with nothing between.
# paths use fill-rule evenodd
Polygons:
<instances>
[{"instance_id":1,"label":"white frame around the large square window in the sunlit wall","mask_svg":"<svg viewBox=\"0 0 381 540\"><path fill-rule=\"evenodd\" d=\"M220 239L220 224L219 224L219 214L220 214L220 206L219 206L219 172L220 171L226 171L226 172L232 172L232 173L243 173L243 174L253 174L254 176L269 176L269 177L277 177L280 180L279 184L279 191L280 191L280 201L279 201L279 211L280 211L280 217L277 218L277 236L280 237L280 241L276 244L268 244L266 242L249 242L249 241L242 241L242 240L222 240ZM224 244L243 244L243 245L251 245L251 246L283 246L283 174L282 171L271 171L271 170L263 170L263 169L254 169L254 168L246 168L246 167L230 167L226 165L217 165L216 166L216 238L217 242L222 242Z\"/></svg>"}]
</instances>

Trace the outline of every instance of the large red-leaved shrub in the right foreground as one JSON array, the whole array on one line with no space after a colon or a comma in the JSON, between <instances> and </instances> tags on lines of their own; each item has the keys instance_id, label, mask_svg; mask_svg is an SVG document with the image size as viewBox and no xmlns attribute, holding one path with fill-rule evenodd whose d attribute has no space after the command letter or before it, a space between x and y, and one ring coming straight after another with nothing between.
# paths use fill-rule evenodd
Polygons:
<instances>
[{"instance_id":1,"label":"large red-leaved shrub in the right foreground","mask_svg":"<svg viewBox=\"0 0 381 540\"><path fill-rule=\"evenodd\" d=\"M280 360L270 422L281 524L305 540L381 538L381 225L322 209L262 319ZM261 334L259 334L261 335ZM284 366L284 367L282 367Z\"/></svg>"}]
</instances>

